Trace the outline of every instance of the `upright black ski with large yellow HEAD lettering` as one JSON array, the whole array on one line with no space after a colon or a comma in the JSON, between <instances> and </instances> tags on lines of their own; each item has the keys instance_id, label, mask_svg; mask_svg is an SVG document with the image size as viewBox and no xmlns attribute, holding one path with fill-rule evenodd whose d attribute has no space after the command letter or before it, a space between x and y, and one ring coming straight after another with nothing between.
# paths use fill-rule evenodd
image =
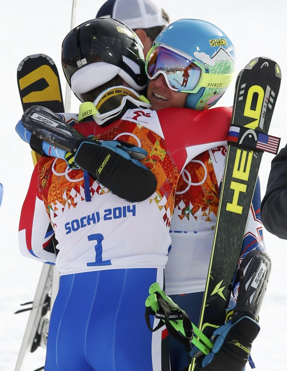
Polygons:
<instances>
[{"instance_id":1,"label":"upright black ski with large yellow HEAD lettering","mask_svg":"<svg viewBox=\"0 0 287 371\"><path fill-rule=\"evenodd\" d=\"M280 82L280 67L268 58L252 59L237 78L225 173L198 326L208 338L215 327L225 322L231 282L264 150L262 136L263 142L269 142L264 134L270 126ZM279 138L274 142L278 150ZM273 146L265 147L270 150ZM271 150L276 153L276 148ZM195 359L189 371L194 367Z\"/></svg>"}]
</instances>

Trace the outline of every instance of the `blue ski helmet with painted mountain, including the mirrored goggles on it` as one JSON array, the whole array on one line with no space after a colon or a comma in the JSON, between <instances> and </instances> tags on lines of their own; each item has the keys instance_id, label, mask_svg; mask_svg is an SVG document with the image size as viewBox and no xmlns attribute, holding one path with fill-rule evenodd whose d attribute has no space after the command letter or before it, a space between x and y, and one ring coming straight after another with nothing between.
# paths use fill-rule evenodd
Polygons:
<instances>
[{"instance_id":1,"label":"blue ski helmet with painted mountain, including the mirrored goggles on it","mask_svg":"<svg viewBox=\"0 0 287 371\"><path fill-rule=\"evenodd\" d=\"M154 40L146 58L150 79L159 73L174 91L188 93L186 107L213 106L230 85L235 49L229 37L212 23L179 19Z\"/></svg>"}]
</instances>

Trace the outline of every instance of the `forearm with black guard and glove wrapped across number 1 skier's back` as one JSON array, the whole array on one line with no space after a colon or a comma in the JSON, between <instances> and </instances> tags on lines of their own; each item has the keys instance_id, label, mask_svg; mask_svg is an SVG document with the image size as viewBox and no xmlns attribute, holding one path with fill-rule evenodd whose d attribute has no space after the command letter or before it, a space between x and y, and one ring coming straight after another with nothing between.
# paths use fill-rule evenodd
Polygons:
<instances>
[{"instance_id":1,"label":"forearm with black guard and glove wrapped across number 1 skier's back","mask_svg":"<svg viewBox=\"0 0 287 371\"><path fill-rule=\"evenodd\" d=\"M42 142L63 150L68 164L74 163L87 171L124 200L143 201L156 191L155 175L138 161L147 156L143 148L119 141L85 138L54 112L42 106L28 108L22 121L17 124L16 131L26 142L32 141L32 149L41 155L45 154ZM30 133L29 140L25 131Z\"/></svg>"}]
</instances>

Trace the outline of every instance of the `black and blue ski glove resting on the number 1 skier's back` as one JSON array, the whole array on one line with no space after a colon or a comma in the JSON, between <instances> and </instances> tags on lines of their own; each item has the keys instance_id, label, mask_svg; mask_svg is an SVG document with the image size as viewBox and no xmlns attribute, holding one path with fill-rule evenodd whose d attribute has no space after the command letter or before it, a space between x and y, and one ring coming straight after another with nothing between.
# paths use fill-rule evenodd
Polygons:
<instances>
[{"instance_id":1,"label":"black and blue ski glove resting on the number 1 skier's back","mask_svg":"<svg viewBox=\"0 0 287 371\"><path fill-rule=\"evenodd\" d=\"M149 198L157 180L138 159L147 152L140 147L118 141L83 139L75 153L75 163L112 193L130 202Z\"/></svg>"}]
</instances>

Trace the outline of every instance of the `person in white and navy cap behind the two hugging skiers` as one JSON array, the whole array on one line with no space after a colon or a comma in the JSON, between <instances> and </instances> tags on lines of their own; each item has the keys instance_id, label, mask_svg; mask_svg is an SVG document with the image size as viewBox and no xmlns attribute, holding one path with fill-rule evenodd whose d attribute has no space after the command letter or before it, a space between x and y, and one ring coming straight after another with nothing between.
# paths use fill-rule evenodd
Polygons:
<instances>
[{"instance_id":1,"label":"person in white and navy cap behind the two hugging skiers","mask_svg":"<svg viewBox=\"0 0 287 371\"><path fill-rule=\"evenodd\" d=\"M157 35L169 24L169 16L155 0L108 0L96 18L114 18L134 30L143 43L146 58Z\"/></svg>"}]
</instances>

